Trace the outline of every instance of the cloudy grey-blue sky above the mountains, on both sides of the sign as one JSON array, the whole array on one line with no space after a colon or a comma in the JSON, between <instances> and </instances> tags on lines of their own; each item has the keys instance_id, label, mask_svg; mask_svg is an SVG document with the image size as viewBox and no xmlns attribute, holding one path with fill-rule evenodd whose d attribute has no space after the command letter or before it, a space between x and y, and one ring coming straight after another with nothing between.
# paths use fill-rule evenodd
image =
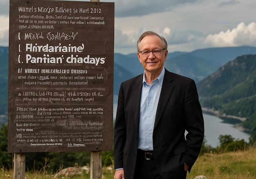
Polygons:
<instances>
[{"instance_id":1,"label":"cloudy grey-blue sky above the mountains, on both sides of the sign","mask_svg":"<svg viewBox=\"0 0 256 179\"><path fill-rule=\"evenodd\" d=\"M169 52L256 47L256 0L100 2L115 2L115 53L136 53L137 40L144 31L164 36ZM0 0L0 22L0 46L8 46L9 0Z\"/></svg>"}]
</instances>

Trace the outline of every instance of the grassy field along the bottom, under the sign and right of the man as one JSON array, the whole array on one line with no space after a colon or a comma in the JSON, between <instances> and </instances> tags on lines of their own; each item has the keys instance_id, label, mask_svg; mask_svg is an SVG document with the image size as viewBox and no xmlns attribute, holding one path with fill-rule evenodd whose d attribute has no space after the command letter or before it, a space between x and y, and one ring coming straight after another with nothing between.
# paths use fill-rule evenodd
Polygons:
<instances>
[{"instance_id":1,"label":"grassy field along the bottom, under the sign and right of the man","mask_svg":"<svg viewBox=\"0 0 256 179\"><path fill-rule=\"evenodd\" d=\"M112 169L112 170L111 170ZM103 167L102 179L113 179L113 167ZM207 179L256 179L256 147L244 151L209 153L198 158L187 179L204 175ZM81 176L60 177L70 179L90 179L90 172L83 171ZM13 179L13 171L1 168L0 179ZM26 172L25 179L53 179L52 174L40 171Z\"/></svg>"}]
</instances>

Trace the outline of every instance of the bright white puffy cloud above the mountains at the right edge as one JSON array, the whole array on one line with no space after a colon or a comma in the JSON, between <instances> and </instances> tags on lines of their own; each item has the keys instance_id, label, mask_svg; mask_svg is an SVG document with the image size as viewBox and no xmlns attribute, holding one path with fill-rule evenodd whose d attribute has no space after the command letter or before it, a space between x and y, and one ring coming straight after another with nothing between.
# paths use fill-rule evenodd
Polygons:
<instances>
[{"instance_id":1,"label":"bright white puffy cloud above the mountains at the right edge","mask_svg":"<svg viewBox=\"0 0 256 179\"><path fill-rule=\"evenodd\" d=\"M204 40L204 43L215 47L229 47L241 45L256 45L256 23L252 22L245 25L244 22L232 30L221 31L218 34L210 34Z\"/></svg>"}]
</instances>

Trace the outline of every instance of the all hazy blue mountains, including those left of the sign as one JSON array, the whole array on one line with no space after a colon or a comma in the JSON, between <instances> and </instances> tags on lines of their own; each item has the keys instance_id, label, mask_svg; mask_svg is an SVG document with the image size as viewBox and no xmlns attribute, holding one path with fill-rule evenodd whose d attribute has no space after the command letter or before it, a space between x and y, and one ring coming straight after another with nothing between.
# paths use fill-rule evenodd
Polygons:
<instances>
[{"instance_id":1,"label":"all hazy blue mountains, including those left of the sign","mask_svg":"<svg viewBox=\"0 0 256 179\"><path fill-rule=\"evenodd\" d=\"M193 78L196 83L215 72L223 64L244 54L256 54L256 47L221 47L198 49L191 52L169 52L165 67L171 72ZM8 105L8 47L0 47L0 115L7 115ZM128 55L114 54L114 95L118 95L119 86L133 76L143 73L137 53ZM116 102L116 101L115 101ZM0 116L6 121L6 116Z\"/></svg>"}]
</instances>

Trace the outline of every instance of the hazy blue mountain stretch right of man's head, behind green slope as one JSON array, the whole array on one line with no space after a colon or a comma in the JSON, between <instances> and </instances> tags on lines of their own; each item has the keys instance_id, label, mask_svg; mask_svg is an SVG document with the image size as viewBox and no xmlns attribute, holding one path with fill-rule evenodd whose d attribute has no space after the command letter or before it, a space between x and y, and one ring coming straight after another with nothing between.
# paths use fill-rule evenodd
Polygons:
<instances>
[{"instance_id":1,"label":"hazy blue mountain stretch right of man's head, behind green slope","mask_svg":"<svg viewBox=\"0 0 256 179\"><path fill-rule=\"evenodd\" d=\"M237 56L256 54L256 47L219 47L191 51L166 60L170 71L193 78L195 82L215 72L220 66Z\"/></svg>"}]
</instances>

